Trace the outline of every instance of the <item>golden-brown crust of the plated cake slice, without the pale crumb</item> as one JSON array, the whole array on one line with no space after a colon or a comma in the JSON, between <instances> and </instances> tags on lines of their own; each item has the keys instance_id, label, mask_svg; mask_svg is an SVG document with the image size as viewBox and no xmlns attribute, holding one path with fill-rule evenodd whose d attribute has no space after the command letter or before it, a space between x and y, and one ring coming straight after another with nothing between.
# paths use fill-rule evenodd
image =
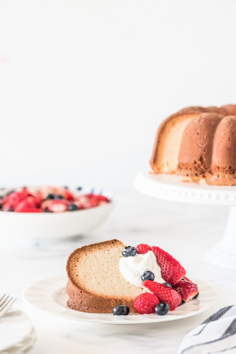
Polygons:
<instances>
[{"instance_id":1,"label":"golden-brown crust of the plated cake slice, without the pale crumb","mask_svg":"<svg viewBox=\"0 0 236 354\"><path fill-rule=\"evenodd\" d=\"M121 241L114 239L110 241L99 242L97 244L82 246L81 248L73 251L69 256L66 270L68 275L67 294L69 296L67 305L70 308L81 312L112 313L114 306L126 305L129 307L130 313L136 312L133 308L133 298L122 298L116 297L115 295L110 297L91 294L87 291L87 289L84 288L82 284L80 284L78 279L75 281L74 268L77 266L77 260L79 260L80 257L84 257L85 253L87 254L88 252L93 252L94 250L104 250L109 247L119 247L119 249L122 251L125 245L123 245ZM143 290L140 289L140 292L142 291Z\"/></svg>"}]
</instances>

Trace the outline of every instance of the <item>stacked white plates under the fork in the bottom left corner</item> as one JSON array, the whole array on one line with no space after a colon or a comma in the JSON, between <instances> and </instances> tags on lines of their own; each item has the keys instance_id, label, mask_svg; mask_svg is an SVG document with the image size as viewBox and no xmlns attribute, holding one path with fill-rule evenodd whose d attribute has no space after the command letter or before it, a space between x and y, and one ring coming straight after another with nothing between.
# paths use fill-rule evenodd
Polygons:
<instances>
[{"instance_id":1,"label":"stacked white plates under the fork in the bottom left corner","mask_svg":"<svg viewBox=\"0 0 236 354\"><path fill-rule=\"evenodd\" d=\"M30 318L11 308L0 320L0 352L23 353L33 345L36 335Z\"/></svg>"}]
</instances>

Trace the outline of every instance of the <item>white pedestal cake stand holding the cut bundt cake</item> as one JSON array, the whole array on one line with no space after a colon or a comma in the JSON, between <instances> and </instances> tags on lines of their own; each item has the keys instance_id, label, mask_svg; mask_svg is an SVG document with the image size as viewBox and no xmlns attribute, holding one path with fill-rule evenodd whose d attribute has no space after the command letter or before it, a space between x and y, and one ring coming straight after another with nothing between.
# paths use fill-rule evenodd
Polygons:
<instances>
[{"instance_id":1,"label":"white pedestal cake stand holding the cut bundt cake","mask_svg":"<svg viewBox=\"0 0 236 354\"><path fill-rule=\"evenodd\" d=\"M230 206L228 222L220 242L206 254L206 260L222 268L236 269L236 187L182 182L177 175L139 172L134 179L138 192L160 199Z\"/></svg>"}]
</instances>

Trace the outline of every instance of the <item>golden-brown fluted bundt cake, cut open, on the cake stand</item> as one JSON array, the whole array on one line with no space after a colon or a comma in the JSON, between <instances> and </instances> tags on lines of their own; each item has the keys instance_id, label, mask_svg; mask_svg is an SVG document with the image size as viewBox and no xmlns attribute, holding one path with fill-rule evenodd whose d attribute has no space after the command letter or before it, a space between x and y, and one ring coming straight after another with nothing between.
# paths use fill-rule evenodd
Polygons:
<instances>
[{"instance_id":1,"label":"golden-brown fluted bundt cake, cut open, on the cake stand","mask_svg":"<svg viewBox=\"0 0 236 354\"><path fill-rule=\"evenodd\" d=\"M188 107L160 125L150 160L154 173L183 181L236 184L236 105Z\"/></svg>"}]
</instances>

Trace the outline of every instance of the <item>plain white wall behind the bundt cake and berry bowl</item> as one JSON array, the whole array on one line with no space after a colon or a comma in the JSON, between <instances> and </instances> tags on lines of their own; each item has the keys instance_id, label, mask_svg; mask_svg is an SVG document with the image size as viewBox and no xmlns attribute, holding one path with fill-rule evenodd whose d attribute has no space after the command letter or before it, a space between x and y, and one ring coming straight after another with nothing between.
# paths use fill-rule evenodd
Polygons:
<instances>
[{"instance_id":1,"label":"plain white wall behind the bundt cake and berry bowl","mask_svg":"<svg viewBox=\"0 0 236 354\"><path fill-rule=\"evenodd\" d=\"M155 133L235 102L234 0L0 0L1 186L132 188Z\"/></svg>"}]
</instances>

